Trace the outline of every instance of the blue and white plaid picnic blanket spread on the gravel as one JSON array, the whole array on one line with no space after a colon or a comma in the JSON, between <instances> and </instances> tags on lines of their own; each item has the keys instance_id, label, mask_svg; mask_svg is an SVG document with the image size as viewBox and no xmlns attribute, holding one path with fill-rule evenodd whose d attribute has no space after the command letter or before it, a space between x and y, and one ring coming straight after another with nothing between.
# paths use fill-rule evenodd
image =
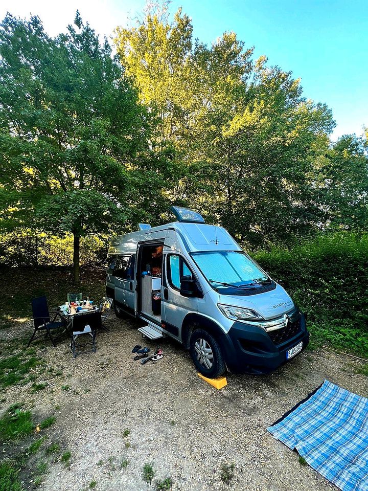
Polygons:
<instances>
[{"instance_id":1,"label":"blue and white plaid picnic blanket spread on the gravel","mask_svg":"<svg viewBox=\"0 0 368 491\"><path fill-rule=\"evenodd\" d=\"M267 430L343 491L368 491L368 399L328 380Z\"/></svg>"}]
</instances>

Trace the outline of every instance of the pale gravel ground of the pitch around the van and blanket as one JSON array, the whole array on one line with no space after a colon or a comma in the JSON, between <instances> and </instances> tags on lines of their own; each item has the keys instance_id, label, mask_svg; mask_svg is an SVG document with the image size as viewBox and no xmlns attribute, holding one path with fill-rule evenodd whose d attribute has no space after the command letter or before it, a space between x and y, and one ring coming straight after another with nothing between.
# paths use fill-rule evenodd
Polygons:
<instances>
[{"instance_id":1,"label":"pale gravel ground of the pitch around the van and blanket","mask_svg":"<svg viewBox=\"0 0 368 491\"><path fill-rule=\"evenodd\" d=\"M46 366L62 375L48 378L44 372L37 382L49 385L35 394L30 383L6 391L4 408L20 400L40 420L55 415L49 442L71 452L69 467L51 461L41 489L82 491L96 481L98 490L146 491L167 477L172 489L182 491L335 488L301 465L266 427L325 378L368 396L368 378L355 373L361 362L329 350L307 350L271 375L228 374L228 385L217 391L197 376L189 353L175 342L160 340L164 358L141 365L131 353L135 344L143 344L137 325L113 313L107 325L110 330L98 334L97 352L76 360L67 340L55 349L34 345ZM24 337L25 331L32 332L29 323L4 336ZM124 460L129 463L121 467ZM142 479L146 462L155 471L151 484ZM226 484L221 466L231 463L234 477ZM31 475L22 479L32 488Z\"/></svg>"}]
</instances>

